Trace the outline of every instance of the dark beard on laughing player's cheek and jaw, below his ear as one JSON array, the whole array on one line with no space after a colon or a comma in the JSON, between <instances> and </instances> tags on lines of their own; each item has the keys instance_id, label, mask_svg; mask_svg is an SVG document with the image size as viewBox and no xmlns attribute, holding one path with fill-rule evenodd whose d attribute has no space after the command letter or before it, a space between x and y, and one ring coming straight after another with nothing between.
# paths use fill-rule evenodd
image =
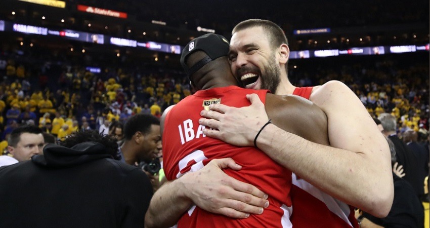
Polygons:
<instances>
[{"instance_id":1,"label":"dark beard on laughing player's cheek and jaw, below his ear","mask_svg":"<svg viewBox=\"0 0 430 228\"><path fill-rule=\"evenodd\" d=\"M281 82L281 69L278 64L276 64L275 55L272 55L268 59L268 64L264 66L264 74L261 74L262 85L260 89L269 90L271 93L275 94L279 83Z\"/></svg>"}]
</instances>

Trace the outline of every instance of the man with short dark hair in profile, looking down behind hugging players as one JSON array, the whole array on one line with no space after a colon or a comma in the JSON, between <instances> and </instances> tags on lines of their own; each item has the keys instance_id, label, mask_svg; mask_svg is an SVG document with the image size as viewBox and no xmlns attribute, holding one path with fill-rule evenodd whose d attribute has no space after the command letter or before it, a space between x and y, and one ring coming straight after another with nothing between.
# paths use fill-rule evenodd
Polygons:
<instances>
[{"instance_id":1,"label":"man with short dark hair in profile, looking down behind hugging players","mask_svg":"<svg viewBox=\"0 0 430 228\"><path fill-rule=\"evenodd\" d=\"M139 166L151 180L154 192L159 187L157 144L160 137L160 121L149 114L137 114L125 122L124 143L118 148L121 161Z\"/></svg>"}]
</instances>

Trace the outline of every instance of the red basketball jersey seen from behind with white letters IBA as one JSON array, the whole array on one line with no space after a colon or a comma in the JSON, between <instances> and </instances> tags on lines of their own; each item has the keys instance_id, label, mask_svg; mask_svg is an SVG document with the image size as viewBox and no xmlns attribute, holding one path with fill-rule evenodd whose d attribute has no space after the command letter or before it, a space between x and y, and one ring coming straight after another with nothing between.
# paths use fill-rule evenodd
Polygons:
<instances>
[{"instance_id":1,"label":"red basketball jersey seen from behind with white letters IBA","mask_svg":"<svg viewBox=\"0 0 430 228\"><path fill-rule=\"evenodd\" d=\"M200 111L211 103L233 107L250 105L246 94L256 93L265 103L267 90L236 86L196 92L180 101L166 116L163 131L163 165L168 180L203 168L210 160L232 158L240 171L225 169L229 176L251 183L269 195L270 206L261 215L233 219L191 207L178 227L291 227L291 172L255 147L237 147L206 137L199 125ZM174 206L174 205L173 205Z\"/></svg>"}]
</instances>

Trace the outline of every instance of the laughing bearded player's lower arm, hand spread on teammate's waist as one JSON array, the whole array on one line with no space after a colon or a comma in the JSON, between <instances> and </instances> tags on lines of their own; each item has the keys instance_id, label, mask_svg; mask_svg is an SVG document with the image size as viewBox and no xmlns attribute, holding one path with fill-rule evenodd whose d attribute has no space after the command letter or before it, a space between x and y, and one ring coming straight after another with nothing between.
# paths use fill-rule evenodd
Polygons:
<instances>
[{"instance_id":1,"label":"laughing bearded player's lower arm, hand spread on teammate's waist","mask_svg":"<svg viewBox=\"0 0 430 228\"><path fill-rule=\"evenodd\" d=\"M161 135L168 107L160 123ZM267 195L247 183L225 174L222 169L240 170L232 159L214 159L201 170L168 181L154 194L145 215L145 227L169 227L176 224L187 209L200 208L234 218L247 218L249 213L261 214L269 206Z\"/></svg>"}]
</instances>

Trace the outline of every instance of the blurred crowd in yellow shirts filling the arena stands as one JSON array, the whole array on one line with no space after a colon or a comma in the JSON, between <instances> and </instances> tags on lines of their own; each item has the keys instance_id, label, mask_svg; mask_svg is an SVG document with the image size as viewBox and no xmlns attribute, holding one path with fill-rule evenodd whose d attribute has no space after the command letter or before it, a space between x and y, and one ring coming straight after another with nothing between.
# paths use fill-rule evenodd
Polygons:
<instances>
[{"instance_id":1,"label":"blurred crowd in yellow shirts filling the arena stands","mask_svg":"<svg viewBox=\"0 0 430 228\"><path fill-rule=\"evenodd\" d=\"M136 113L160 117L166 107L192 93L179 70L107 66L92 73L81 64L35 65L9 57L0 67L2 152L8 134L20 124L35 124L57 140L78 129L107 134L111 123L124 123ZM390 112L400 133L412 129L423 139L428 136L428 61L420 54L291 60L289 65L296 86L342 81L372 117Z\"/></svg>"}]
</instances>

